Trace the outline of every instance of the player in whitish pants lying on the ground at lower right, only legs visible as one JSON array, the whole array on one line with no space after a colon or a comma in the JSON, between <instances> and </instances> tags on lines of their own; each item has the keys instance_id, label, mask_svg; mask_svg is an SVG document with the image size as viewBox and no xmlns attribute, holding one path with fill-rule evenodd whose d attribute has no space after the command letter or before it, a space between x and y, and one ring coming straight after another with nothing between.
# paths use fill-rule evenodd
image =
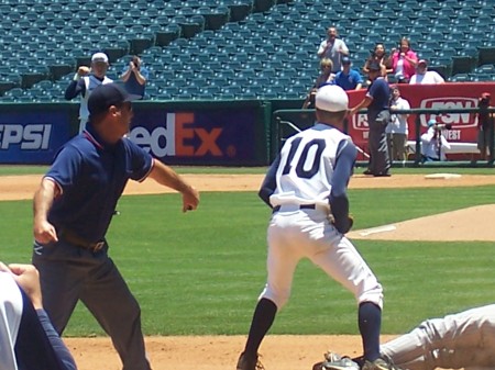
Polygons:
<instances>
[{"instance_id":1,"label":"player in whitish pants lying on the ground at lower right, only legs visible","mask_svg":"<svg viewBox=\"0 0 495 370\"><path fill-rule=\"evenodd\" d=\"M422 322L410 333L382 345L382 355L409 370L495 369L495 304ZM345 361L324 363L324 369L355 369Z\"/></svg>"}]
</instances>

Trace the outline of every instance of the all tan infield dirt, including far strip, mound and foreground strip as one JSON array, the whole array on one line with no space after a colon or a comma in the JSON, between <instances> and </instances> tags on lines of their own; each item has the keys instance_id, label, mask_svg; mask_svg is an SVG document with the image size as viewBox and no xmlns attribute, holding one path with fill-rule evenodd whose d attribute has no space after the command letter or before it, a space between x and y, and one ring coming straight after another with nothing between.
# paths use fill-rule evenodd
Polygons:
<instances>
[{"instance_id":1,"label":"all tan infield dirt, including far strip, mound and foreground strip","mask_svg":"<svg viewBox=\"0 0 495 370\"><path fill-rule=\"evenodd\" d=\"M255 191L262 181L260 175L184 175L200 191ZM0 177L0 200L32 199L40 176ZM422 175L369 178L354 176L351 189L359 188L418 188L418 187L470 187L495 184L495 176L462 176L450 179L427 179ZM129 183L124 194L165 193L167 189L153 180ZM485 205L417 218L382 229L354 231L353 238L427 239L437 240L495 240L495 228L488 221L495 218L495 206ZM465 220L470 220L466 227ZM435 231L431 231L435 225ZM446 227L439 231L439 225ZM420 227L421 235L417 235ZM431 231L431 232L429 232ZM246 323L248 325L248 323ZM392 336L383 336L387 340ZM201 337L147 337L146 349L153 369L174 370L232 370L244 336ZM120 360L108 338L65 338L75 356L79 370L118 370ZM267 336L261 352L267 370L309 370L322 359L327 349L356 355L361 348L358 336Z\"/></svg>"}]
</instances>

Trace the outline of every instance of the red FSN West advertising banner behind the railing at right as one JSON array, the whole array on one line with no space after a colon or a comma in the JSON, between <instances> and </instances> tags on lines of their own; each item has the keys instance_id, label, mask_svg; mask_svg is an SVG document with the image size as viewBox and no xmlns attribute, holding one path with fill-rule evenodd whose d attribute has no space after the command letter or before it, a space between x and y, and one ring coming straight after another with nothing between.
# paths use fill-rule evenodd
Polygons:
<instances>
[{"instance_id":1,"label":"red FSN West advertising banner behind the railing at right","mask_svg":"<svg viewBox=\"0 0 495 370\"><path fill-rule=\"evenodd\" d=\"M479 98L483 92L488 92L495 98L495 83L441 83L441 85L398 85L400 96L409 101L411 109L473 109L477 106ZM359 104L366 90L349 91L350 106ZM492 100L494 105L494 100ZM408 117L408 139L416 141L416 119L418 114ZM477 137L476 113L427 113L419 114L420 134L427 131L427 122L436 119L439 124L451 125L443 132L444 136L454 147L465 148L465 158L473 153L473 146ZM355 114L349 120L348 133L354 143L367 153L369 126L366 114ZM459 157L459 156L457 156ZM361 158L363 159L363 158Z\"/></svg>"}]
</instances>

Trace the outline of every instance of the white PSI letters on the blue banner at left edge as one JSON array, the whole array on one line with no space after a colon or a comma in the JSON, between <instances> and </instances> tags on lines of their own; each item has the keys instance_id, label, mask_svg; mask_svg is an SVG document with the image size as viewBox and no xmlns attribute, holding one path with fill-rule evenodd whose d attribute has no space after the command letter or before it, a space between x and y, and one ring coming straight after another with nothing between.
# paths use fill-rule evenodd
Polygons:
<instances>
[{"instance_id":1,"label":"white PSI letters on the blue banner at left edge","mask_svg":"<svg viewBox=\"0 0 495 370\"><path fill-rule=\"evenodd\" d=\"M0 124L0 150L19 146L21 150L46 150L50 144L51 124Z\"/></svg>"}]
</instances>

